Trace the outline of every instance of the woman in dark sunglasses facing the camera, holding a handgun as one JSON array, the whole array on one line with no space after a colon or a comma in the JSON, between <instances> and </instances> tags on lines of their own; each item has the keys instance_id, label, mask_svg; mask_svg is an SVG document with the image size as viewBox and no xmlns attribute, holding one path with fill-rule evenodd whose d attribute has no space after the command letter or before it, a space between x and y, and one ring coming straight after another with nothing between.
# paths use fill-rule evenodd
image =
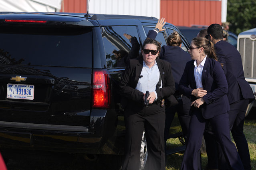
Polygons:
<instances>
[{"instance_id":1,"label":"woman in dark sunglasses facing the camera, holding a handgun","mask_svg":"<svg viewBox=\"0 0 256 170\"><path fill-rule=\"evenodd\" d=\"M175 91L170 63L158 59L161 43L146 39L141 57L130 59L121 81L126 139L123 170L139 170L143 130L147 138L147 170L165 170L165 99ZM148 105L143 105L149 91Z\"/></svg>"}]
</instances>

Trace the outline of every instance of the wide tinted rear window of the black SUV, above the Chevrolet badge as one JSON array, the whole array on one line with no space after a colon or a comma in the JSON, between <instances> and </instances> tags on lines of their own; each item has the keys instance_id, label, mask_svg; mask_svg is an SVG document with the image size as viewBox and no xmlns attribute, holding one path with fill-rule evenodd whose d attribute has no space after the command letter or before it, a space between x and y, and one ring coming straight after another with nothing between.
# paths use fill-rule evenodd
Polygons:
<instances>
[{"instance_id":1,"label":"wide tinted rear window of the black SUV, above the Chevrolet badge","mask_svg":"<svg viewBox=\"0 0 256 170\"><path fill-rule=\"evenodd\" d=\"M91 67L89 28L1 27L0 63Z\"/></svg>"}]
</instances>

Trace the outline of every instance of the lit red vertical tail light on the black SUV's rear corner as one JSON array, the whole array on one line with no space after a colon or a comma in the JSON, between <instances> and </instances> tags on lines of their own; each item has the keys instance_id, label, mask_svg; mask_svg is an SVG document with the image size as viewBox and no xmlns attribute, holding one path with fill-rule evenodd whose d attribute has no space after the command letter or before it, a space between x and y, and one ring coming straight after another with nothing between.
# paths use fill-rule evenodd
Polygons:
<instances>
[{"instance_id":1,"label":"lit red vertical tail light on the black SUV's rear corner","mask_svg":"<svg viewBox=\"0 0 256 170\"><path fill-rule=\"evenodd\" d=\"M110 80L106 71L93 71L93 108L110 108Z\"/></svg>"}]
</instances>

